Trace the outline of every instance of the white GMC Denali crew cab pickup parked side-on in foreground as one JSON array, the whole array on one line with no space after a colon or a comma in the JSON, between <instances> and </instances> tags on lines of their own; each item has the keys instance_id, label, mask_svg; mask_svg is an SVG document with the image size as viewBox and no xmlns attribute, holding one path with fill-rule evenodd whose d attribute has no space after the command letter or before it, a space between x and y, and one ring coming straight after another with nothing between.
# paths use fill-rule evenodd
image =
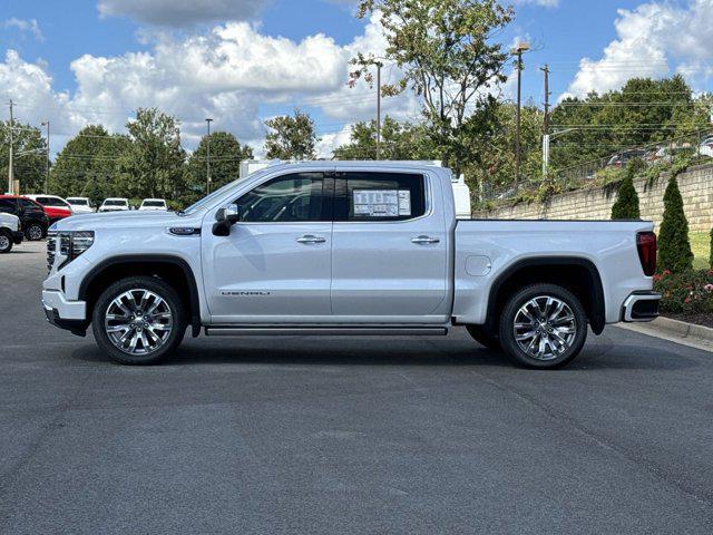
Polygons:
<instances>
[{"instance_id":1,"label":"white GMC Denali crew cab pickup parked side-on in foreground","mask_svg":"<svg viewBox=\"0 0 713 535\"><path fill-rule=\"evenodd\" d=\"M50 228L48 320L124 363L197 337L446 334L466 325L519 363L556 368L587 329L649 321L651 222L458 221L428 165L279 165L186 211Z\"/></svg>"}]
</instances>

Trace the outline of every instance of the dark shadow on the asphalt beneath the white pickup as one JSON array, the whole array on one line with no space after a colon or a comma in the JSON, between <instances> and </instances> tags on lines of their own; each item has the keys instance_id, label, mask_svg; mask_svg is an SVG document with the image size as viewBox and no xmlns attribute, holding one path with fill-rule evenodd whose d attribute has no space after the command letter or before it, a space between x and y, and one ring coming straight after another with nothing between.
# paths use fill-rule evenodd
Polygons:
<instances>
[{"instance_id":1,"label":"dark shadow on the asphalt beneath the white pickup","mask_svg":"<svg viewBox=\"0 0 713 535\"><path fill-rule=\"evenodd\" d=\"M439 343L430 340L373 340L373 339L315 339L315 338L254 338L229 339L221 343L188 340L170 358L158 366L204 364L285 364L285 366L383 366L383 367L477 367L512 368L525 370L498 351L467 343ZM604 342L604 343L602 343ZM662 370L675 371L701 366L695 359L682 356L668 348L636 344L614 346L602 340L588 344L582 354L563 371L590 370ZM682 348L685 349L685 348ZM96 347L82 346L71 353L74 359L86 362L111 361Z\"/></svg>"}]
</instances>

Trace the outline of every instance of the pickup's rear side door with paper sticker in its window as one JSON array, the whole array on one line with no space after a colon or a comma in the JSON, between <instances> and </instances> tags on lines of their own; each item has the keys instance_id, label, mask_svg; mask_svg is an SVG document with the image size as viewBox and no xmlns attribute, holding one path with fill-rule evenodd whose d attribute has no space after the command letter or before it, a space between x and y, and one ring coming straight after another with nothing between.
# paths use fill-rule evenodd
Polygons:
<instances>
[{"instance_id":1,"label":"pickup's rear side door with paper sticker in its window","mask_svg":"<svg viewBox=\"0 0 713 535\"><path fill-rule=\"evenodd\" d=\"M423 174L338 173L332 231L335 317L345 322L447 319L448 235L441 195L440 183Z\"/></svg>"}]
</instances>

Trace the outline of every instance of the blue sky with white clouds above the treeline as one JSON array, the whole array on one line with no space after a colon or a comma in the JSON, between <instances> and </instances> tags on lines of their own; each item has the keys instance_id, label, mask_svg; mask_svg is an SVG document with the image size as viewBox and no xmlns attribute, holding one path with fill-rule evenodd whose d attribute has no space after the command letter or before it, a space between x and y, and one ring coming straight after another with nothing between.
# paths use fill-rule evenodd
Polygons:
<instances>
[{"instance_id":1,"label":"blue sky with white clouds above the treeline","mask_svg":"<svg viewBox=\"0 0 713 535\"><path fill-rule=\"evenodd\" d=\"M358 19L356 0L0 0L0 118L49 120L52 154L88 124L124 132L139 107L180 120L185 146L228 130L262 154L264 120L309 111L319 155L375 115L375 90L346 86L349 59L383 52L378 16ZM713 0L511 0L516 17L498 36L527 41L525 100L616 89L633 76L683 74L711 90ZM399 70L384 67L385 81ZM509 67L507 74L511 75ZM504 98L514 98L510 76ZM409 93L383 113L417 120Z\"/></svg>"}]
</instances>

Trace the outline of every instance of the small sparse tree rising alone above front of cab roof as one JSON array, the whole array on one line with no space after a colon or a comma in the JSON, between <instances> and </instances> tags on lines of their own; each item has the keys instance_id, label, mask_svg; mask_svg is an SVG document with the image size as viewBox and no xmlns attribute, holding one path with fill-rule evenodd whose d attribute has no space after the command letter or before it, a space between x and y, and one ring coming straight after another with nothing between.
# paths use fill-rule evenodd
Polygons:
<instances>
[{"instance_id":1,"label":"small sparse tree rising alone above front of cab roof","mask_svg":"<svg viewBox=\"0 0 713 535\"><path fill-rule=\"evenodd\" d=\"M267 158L277 159L314 159L318 138L314 121L309 114L299 109L294 115L281 115L265 121L270 128L265 138Z\"/></svg>"}]
</instances>

